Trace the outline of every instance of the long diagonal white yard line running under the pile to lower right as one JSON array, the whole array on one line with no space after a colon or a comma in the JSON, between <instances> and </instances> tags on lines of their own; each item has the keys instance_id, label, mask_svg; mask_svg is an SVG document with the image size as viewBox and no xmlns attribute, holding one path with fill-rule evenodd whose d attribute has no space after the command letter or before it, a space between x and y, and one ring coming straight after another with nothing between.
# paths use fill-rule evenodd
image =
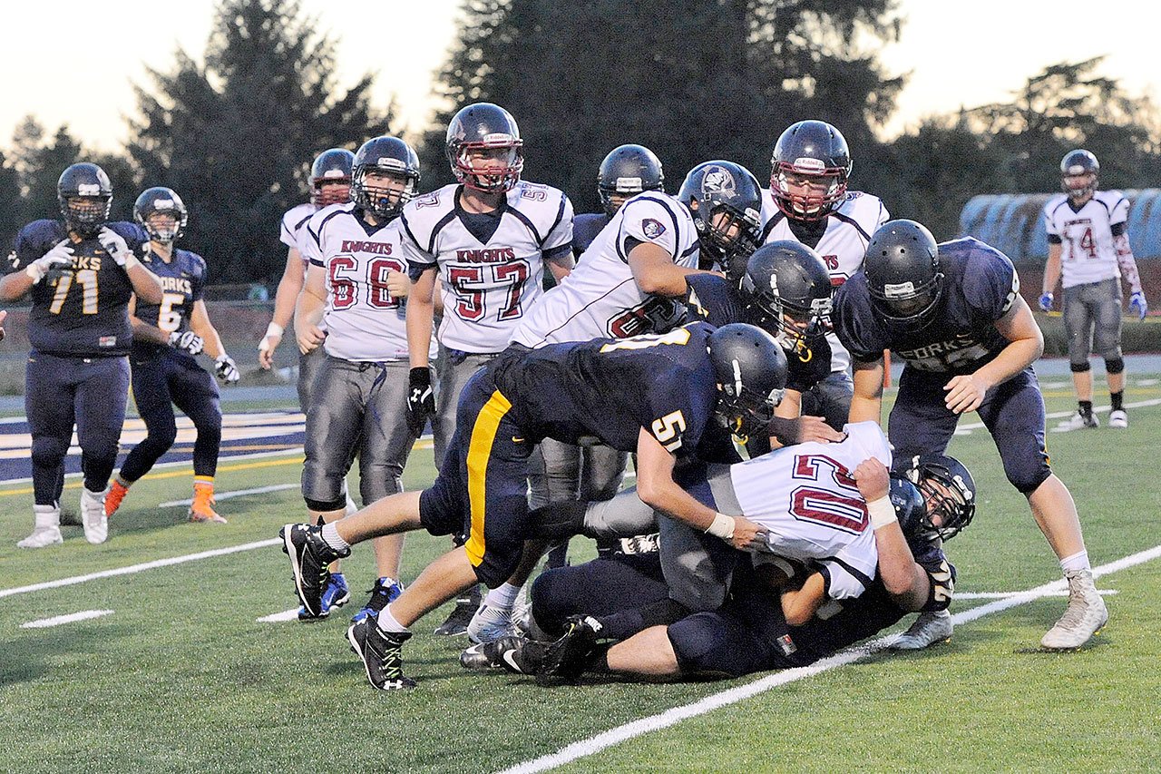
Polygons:
<instances>
[{"instance_id":1,"label":"long diagonal white yard line running under the pile to lower right","mask_svg":"<svg viewBox=\"0 0 1161 774\"><path fill-rule=\"evenodd\" d=\"M1112 561L1099 567L1094 567L1093 575L1094 578L1108 575L1127 567L1133 567L1152 559L1156 559L1158 557L1161 557L1161 545L1154 546L1147 551L1131 554L1124 559L1118 559L1117 561ZM996 600L995 602L981 604L976 608L972 608L971 610L956 614L952 616L952 621L956 624L975 621L976 618L982 618L983 616L991 615L993 612L1000 612L1001 610L1007 610L1008 608L1014 608L1018 604L1026 604L1043 596L1054 595L1065 588L1066 583L1063 579L1055 580L1051 583L1037 586L1036 588L1021 592L1003 600ZM894 635L880 637L871 643L841 651L835 655L831 655L828 659L822 659L808 667L784 669L783 672L767 675L744 686L737 686L736 688L730 688L728 690L713 694L712 696L706 696L705 698L693 702L692 704L675 707L673 709L666 710L659 715L641 718L640 721L634 721L633 723L626 723L625 725L610 729L608 731L598 733L589 739L583 739L571 744L549 755L543 755L541 758L513 766L512 768L506 768L502 772L502 774L532 774L533 772L545 772L550 768L556 768L557 766L571 764L575 760L598 753L603 750L612 747L613 745L626 741L627 739L640 737L644 733L649 733L650 731L669 728L680 723L682 721L705 715L706 712L721 707L735 704L745 698L750 698L751 696L765 693L772 688L785 686L786 683L795 682L798 680L802 680L803 678L812 678L822 672L834 669L835 667L852 664L872 653L881 651L893 639L895 639ZM607 761L605 762L607 767Z\"/></svg>"}]
</instances>

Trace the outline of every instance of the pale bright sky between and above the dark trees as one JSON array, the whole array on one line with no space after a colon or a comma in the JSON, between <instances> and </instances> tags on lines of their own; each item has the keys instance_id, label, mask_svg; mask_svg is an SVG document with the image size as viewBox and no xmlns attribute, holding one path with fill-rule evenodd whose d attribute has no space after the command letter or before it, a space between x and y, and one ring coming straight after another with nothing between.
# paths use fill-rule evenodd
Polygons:
<instances>
[{"instance_id":1,"label":"pale bright sky between and above the dark trees","mask_svg":"<svg viewBox=\"0 0 1161 774\"><path fill-rule=\"evenodd\" d=\"M409 138L431 115L431 80L454 38L459 5L302 0L319 29L339 40L338 83L378 71L374 101L385 107L395 99ZM116 150L128 135L124 116L137 105L132 84L149 86L146 66L172 69L179 46L201 60L214 6L214 0L45 0L7 8L0 146L31 114L50 132L67 123L86 146ZM1007 101L1046 65L1095 56L1108 56L1099 74L1161 105L1155 27L1140 23L1152 17L1152 2L1115 3L1115 13L1102 13L1091 0L902 0L900 7L907 16L901 41L882 62L889 73L910 77L887 136L925 115Z\"/></svg>"}]
</instances>

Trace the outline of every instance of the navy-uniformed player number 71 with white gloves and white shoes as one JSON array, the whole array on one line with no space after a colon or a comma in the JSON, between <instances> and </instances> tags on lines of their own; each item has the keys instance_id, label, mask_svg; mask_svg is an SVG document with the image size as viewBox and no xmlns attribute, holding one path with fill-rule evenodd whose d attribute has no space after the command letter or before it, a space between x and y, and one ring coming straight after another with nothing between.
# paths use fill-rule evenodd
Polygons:
<instances>
[{"instance_id":1,"label":"navy-uniformed player number 71 with white gloves and white shoes","mask_svg":"<svg viewBox=\"0 0 1161 774\"><path fill-rule=\"evenodd\" d=\"M104 495L117 463L129 400L129 299L160 303L161 284L142 265L149 237L109 222L113 186L96 164L78 163L57 181L59 221L34 221L16 235L0 301L31 295L24 410L33 436L35 528L17 543L60 543L60 487L73 425L81 447L85 538L108 538Z\"/></svg>"}]
</instances>

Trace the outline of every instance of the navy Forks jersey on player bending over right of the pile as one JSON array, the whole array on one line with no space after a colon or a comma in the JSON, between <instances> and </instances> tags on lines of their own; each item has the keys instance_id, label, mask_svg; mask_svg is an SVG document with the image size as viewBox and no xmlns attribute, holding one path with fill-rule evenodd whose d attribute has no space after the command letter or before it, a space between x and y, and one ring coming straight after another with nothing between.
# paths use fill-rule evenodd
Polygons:
<instances>
[{"instance_id":1,"label":"navy Forks jersey on player bending over right of the pile","mask_svg":"<svg viewBox=\"0 0 1161 774\"><path fill-rule=\"evenodd\" d=\"M835 291L835 331L856 360L873 363L890 350L920 371L965 374L1008 346L995 327L1019 296L1019 277L1008 256L965 237L939 245L939 271L944 279L938 309L914 332L894 332L881 324L864 272Z\"/></svg>"}]
</instances>

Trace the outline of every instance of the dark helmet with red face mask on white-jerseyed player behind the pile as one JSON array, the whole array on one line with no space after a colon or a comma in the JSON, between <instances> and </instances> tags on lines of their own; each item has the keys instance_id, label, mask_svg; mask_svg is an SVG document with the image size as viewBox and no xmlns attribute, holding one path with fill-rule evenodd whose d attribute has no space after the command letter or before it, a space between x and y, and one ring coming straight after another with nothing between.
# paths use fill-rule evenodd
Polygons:
<instances>
[{"instance_id":1,"label":"dark helmet with red face mask on white-jerseyed player behind the pile","mask_svg":"<svg viewBox=\"0 0 1161 774\"><path fill-rule=\"evenodd\" d=\"M770 166L770 193L778 209L799 221L817 221L827 217L846 195L851 151L843 134L825 121L799 121L778 137ZM792 193L787 174L822 178L825 192Z\"/></svg>"}]
</instances>

